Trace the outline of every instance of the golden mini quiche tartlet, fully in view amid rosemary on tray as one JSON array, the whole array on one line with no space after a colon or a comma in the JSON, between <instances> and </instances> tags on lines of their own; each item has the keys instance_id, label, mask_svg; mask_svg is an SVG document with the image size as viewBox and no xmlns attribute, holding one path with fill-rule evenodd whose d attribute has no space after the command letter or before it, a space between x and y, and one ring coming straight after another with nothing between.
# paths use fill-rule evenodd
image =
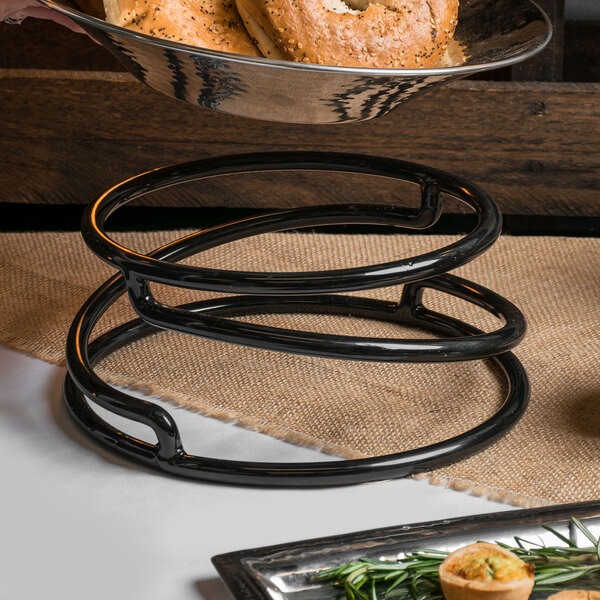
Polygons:
<instances>
[{"instance_id":1,"label":"golden mini quiche tartlet, fully in view amid rosemary on tray","mask_svg":"<svg viewBox=\"0 0 600 600\"><path fill-rule=\"evenodd\" d=\"M534 569L501 546L479 542L448 555L440 583L446 600L527 600Z\"/></svg>"}]
</instances>

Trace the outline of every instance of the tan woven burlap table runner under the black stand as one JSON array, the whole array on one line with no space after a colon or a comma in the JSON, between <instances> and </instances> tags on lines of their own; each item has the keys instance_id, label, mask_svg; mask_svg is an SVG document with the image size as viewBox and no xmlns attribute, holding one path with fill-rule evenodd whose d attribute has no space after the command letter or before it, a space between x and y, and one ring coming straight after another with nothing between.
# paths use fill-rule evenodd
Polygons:
<instances>
[{"instance_id":1,"label":"tan woven burlap table runner under the black stand","mask_svg":"<svg viewBox=\"0 0 600 600\"><path fill-rule=\"evenodd\" d=\"M122 234L141 251L183 232ZM202 255L209 267L309 270L376 263L441 247L449 236L270 234ZM191 261L199 264L199 258ZM66 331L89 294L114 271L76 233L0 236L0 340L62 364ZM485 451L427 475L519 506L600 497L600 240L503 237L456 271L515 302L529 330L516 351L532 383L531 405L505 438ZM397 300L401 290L363 292ZM208 294L157 289L184 302ZM122 299L98 327L134 315ZM482 310L439 293L438 310L490 329ZM264 315L254 322L343 334L423 337L422 332L361 319ZM165 366L168 365L168 366ZM484 361L401 365L336 361L238 348L159 333L106 359L107 380L158 394L174 404L344 457L422 446L491 415L502 383ZM185 440L184 440L185 442Z\"/></svg>"}]
</instances>

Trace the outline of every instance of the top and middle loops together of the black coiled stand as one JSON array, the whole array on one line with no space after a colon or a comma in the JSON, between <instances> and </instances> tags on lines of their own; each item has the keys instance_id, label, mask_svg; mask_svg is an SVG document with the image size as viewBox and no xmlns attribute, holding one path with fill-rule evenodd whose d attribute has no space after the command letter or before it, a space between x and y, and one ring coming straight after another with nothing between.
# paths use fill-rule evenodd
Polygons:
<instances>
[{"instance_id":1,"label":"top and middle loops together of the black coiled stand","mask_svg":"<svg viewBox=\"0 0 600 600\"><path fill-rule=\"evenodd\" d=\"M271 161L271 162L268 162ZM250 219L226 223L185 238L183 244L165 246L159 260L132 252L110 240L104 231L108 215L142 193L162 189L184 181L202 179L216 174L244 173L254 170L319 168L353 170L353 172L384 175L416 182L421 186L421 207L418 211L378 205L339 205L276 211ZM439 218L442 210L440 192L453 193L478 214L479 223L471 234L439 251L420 257L392 261L382 265L313 271L305 273L256 273L226 271L173 264L188 257L233 240L293 227L318 226L332 223L392 224L402 227L426 227ZM493 221L498 214L495 204L485 192L450 175L402 161L345 154L290 153L248 155L209 159L151 171L112 188L87 211L83 231L87 243L108 262L116 264L125 275L131 303L136 312L156 327L228 341L255 348L370 361L439 362L474 360L501 354L516 346L525 334L525 319L521 312L501 296L478 287L478 294L468 291L471 299L499 316L504 326L491 333L457 339L431 340L357 338L298 332L240 324L214 317L208 313L190 314L181 308L166 306L153 297L148 281L200 288L228 293L314 296L317 293L350 291L412 282L447 271L471 260L496 239L499 228ZM443 286L440 280L439 286ZM452 288L447 284L448 289ZM460 295L460 286L455 291ZM440 288L442 289L442 288ZM412 296L405 296L405 304ZM323 299L313 302L325 303ZM399 306L397 312L409 309L413 319L422 306ZM402 314L403 318L406 315Z\"/></svg>"}]
</instances>

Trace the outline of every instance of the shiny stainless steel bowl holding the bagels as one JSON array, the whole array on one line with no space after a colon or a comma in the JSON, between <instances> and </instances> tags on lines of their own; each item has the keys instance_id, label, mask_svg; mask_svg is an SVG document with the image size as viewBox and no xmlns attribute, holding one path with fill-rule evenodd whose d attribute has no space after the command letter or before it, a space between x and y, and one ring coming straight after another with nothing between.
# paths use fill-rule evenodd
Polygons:
<instances>
[{"instance_id":1,"label":"shiny stainless steel bowl holding the bagels","mask_svg":"<svg viewBox=\"0 0 600 600\"><path fill-rule=\"evenodd\" d=\"M194 48L110 25L54 0L39 1L76 21L135 77L167 96L285 123L374 119L434 86L525 60L542 50L552 33L548 17L531 0L462 0L443 66L361 69Z\"/></svg>"}]
</instances>

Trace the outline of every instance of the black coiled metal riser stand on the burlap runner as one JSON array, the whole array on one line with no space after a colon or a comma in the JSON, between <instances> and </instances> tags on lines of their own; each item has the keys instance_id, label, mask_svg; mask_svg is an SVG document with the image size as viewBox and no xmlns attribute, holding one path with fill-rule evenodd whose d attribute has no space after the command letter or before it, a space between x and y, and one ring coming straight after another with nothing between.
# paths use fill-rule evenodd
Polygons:
<instances>
[{"instance_id":1,"label":"black coiled metal riser stand on the burlap runner","mask_svg":"<svg viewBox=\"0 0 600 600\"><path fill-rule=\"evenodd\" d=\"M282 210L226 223L171 242L148 255L115 243L104 231L108 216L127 202L167 186L255 171L320 170L378 175L416 183L421 206L334 205ZM209 248L261 233L334 224L394 225L426 229L442 212L441 194L452 195L477 214L476 228L461 240L417 257L333 271L270 273L227 271L178 264ZM472 183L442 171L398 160L352 154L272 153L228 156L157 169L112 188L89 207L82 223L86 243L121 274L108 280L81 308L69 331L64 399L76 422L114 452L174 475L271 486L322 486L403 477L477 451L506 433L523 414L529 383L509 352L525 334L525 319L513 304L446 271L487 250L501 230L491 198ZM156 300L150 283L242 294L181 306ZM399 302L344 296L339 292L404 284ZM491 333L423 305L426 288L456 296L491 312L503 325ZM102 314L123 293L140 316L94 342L90 335ZM425 328L441 339L384 339L326 335L245 323L226 317L259 313L335 313ZM175 421L160 406L102 381L93 366L100 359L161 329L223 342L327 358L386 362L447 362L490 358L504 373L508 393L491 418L474 429L424 448L359 460L308 463L232 461L189 455ZM90 403L149 426L151 444L104 421Z\"/></svg>"}]
</instances>

